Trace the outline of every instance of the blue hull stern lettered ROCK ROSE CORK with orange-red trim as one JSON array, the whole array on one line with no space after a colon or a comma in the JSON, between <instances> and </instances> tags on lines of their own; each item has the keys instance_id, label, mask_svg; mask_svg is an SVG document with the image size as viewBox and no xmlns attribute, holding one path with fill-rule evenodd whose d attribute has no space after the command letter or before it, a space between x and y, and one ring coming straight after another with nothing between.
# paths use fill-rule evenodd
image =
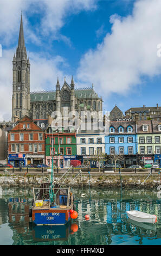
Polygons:
<instances>
[{"instance_id":1,"label":"blue hull stern lettered ROCK ROSE CORK with orange-red trim","mask_svg":"<svg viewBox=\"0 0 161 256\"><path fill-rule=\"evenodd\" d=\"M34 210L33 222L36 225L65 225L70 220L70 212L67 210Z\"/></svg>"}]
</instances>

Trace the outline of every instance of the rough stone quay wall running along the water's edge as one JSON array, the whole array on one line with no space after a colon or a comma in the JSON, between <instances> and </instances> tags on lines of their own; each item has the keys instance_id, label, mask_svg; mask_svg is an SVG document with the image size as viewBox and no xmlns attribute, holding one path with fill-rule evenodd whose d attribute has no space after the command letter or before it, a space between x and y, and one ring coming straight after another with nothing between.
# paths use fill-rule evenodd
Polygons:
<instances>
[{"instance_id":1,"label":"rough stone quay wall running along the water's edge","mask_svg":"<svg viewBox=\"0 0 161 256\"><path fill-rule=\"evenodd\" d=\"M58 181L62 174L55 174L54 178ZM134 174L68 174L63 182L63 187L96 187L96 188L157 188L161 185L159 173L134 173ZM43 174L0 174L1 187L38 187L41 182L48 181L50 175ZM62 184L62 179L58 182Z\"/></svg>"}]
</instances>

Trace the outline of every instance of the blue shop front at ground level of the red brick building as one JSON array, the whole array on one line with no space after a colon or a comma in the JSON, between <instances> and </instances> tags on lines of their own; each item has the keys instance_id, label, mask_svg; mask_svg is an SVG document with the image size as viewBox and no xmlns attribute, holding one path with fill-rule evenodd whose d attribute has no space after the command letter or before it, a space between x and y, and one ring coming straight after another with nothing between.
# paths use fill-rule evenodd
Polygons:
<instances>
[{"instance_id":1,"label":"blue shop front at ground level of the red brick building","mask_svg":"<svg viewBox=\"0 0 161 256\"><path fill-rule=\"evenodd\" d=\"M9 154L8 163L14 167L25 166L25 154Z\"/></svg>"}]
</instances>

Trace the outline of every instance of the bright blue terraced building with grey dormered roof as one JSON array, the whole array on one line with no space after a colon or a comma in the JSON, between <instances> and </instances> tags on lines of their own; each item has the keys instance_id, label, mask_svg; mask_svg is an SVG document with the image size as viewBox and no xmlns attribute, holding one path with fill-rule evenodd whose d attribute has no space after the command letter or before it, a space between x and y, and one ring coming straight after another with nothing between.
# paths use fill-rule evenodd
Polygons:
<instances>
[{"instance_id":1,"label":"bright blue terraced building with grey dormered roof","mask_svg":"<svg viewBox=\"0 0 161 256\"><path fill-rule=\"evenodd\" d=\"M110 121L109 135L105 136L105 153L123 155L122 167L138 164L135 121ZM108 163L111 163L108 157Z\"/></svg>"}]
</instances>

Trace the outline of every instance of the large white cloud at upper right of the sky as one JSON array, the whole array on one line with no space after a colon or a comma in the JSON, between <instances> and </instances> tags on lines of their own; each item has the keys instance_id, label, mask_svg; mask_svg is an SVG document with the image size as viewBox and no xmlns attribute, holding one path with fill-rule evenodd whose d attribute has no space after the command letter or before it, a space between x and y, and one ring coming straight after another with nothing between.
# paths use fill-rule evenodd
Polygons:
<instances>
[{"instance_id":1,"label":"large white cloud at upper right of the sky","mask_svg":"<svg viewBox=\"0 0 161 256\"><path fill-rule=\"evenodd\" d=\"M161 1L140 0L134 3L132 15L110 19L111 34L102 44L89 50L77 71L81 82L94 83L104 99L110 93L126 94L142 82L142 76L161 73L157 44L161 43Z\"/></svg>"}]
</instances>

